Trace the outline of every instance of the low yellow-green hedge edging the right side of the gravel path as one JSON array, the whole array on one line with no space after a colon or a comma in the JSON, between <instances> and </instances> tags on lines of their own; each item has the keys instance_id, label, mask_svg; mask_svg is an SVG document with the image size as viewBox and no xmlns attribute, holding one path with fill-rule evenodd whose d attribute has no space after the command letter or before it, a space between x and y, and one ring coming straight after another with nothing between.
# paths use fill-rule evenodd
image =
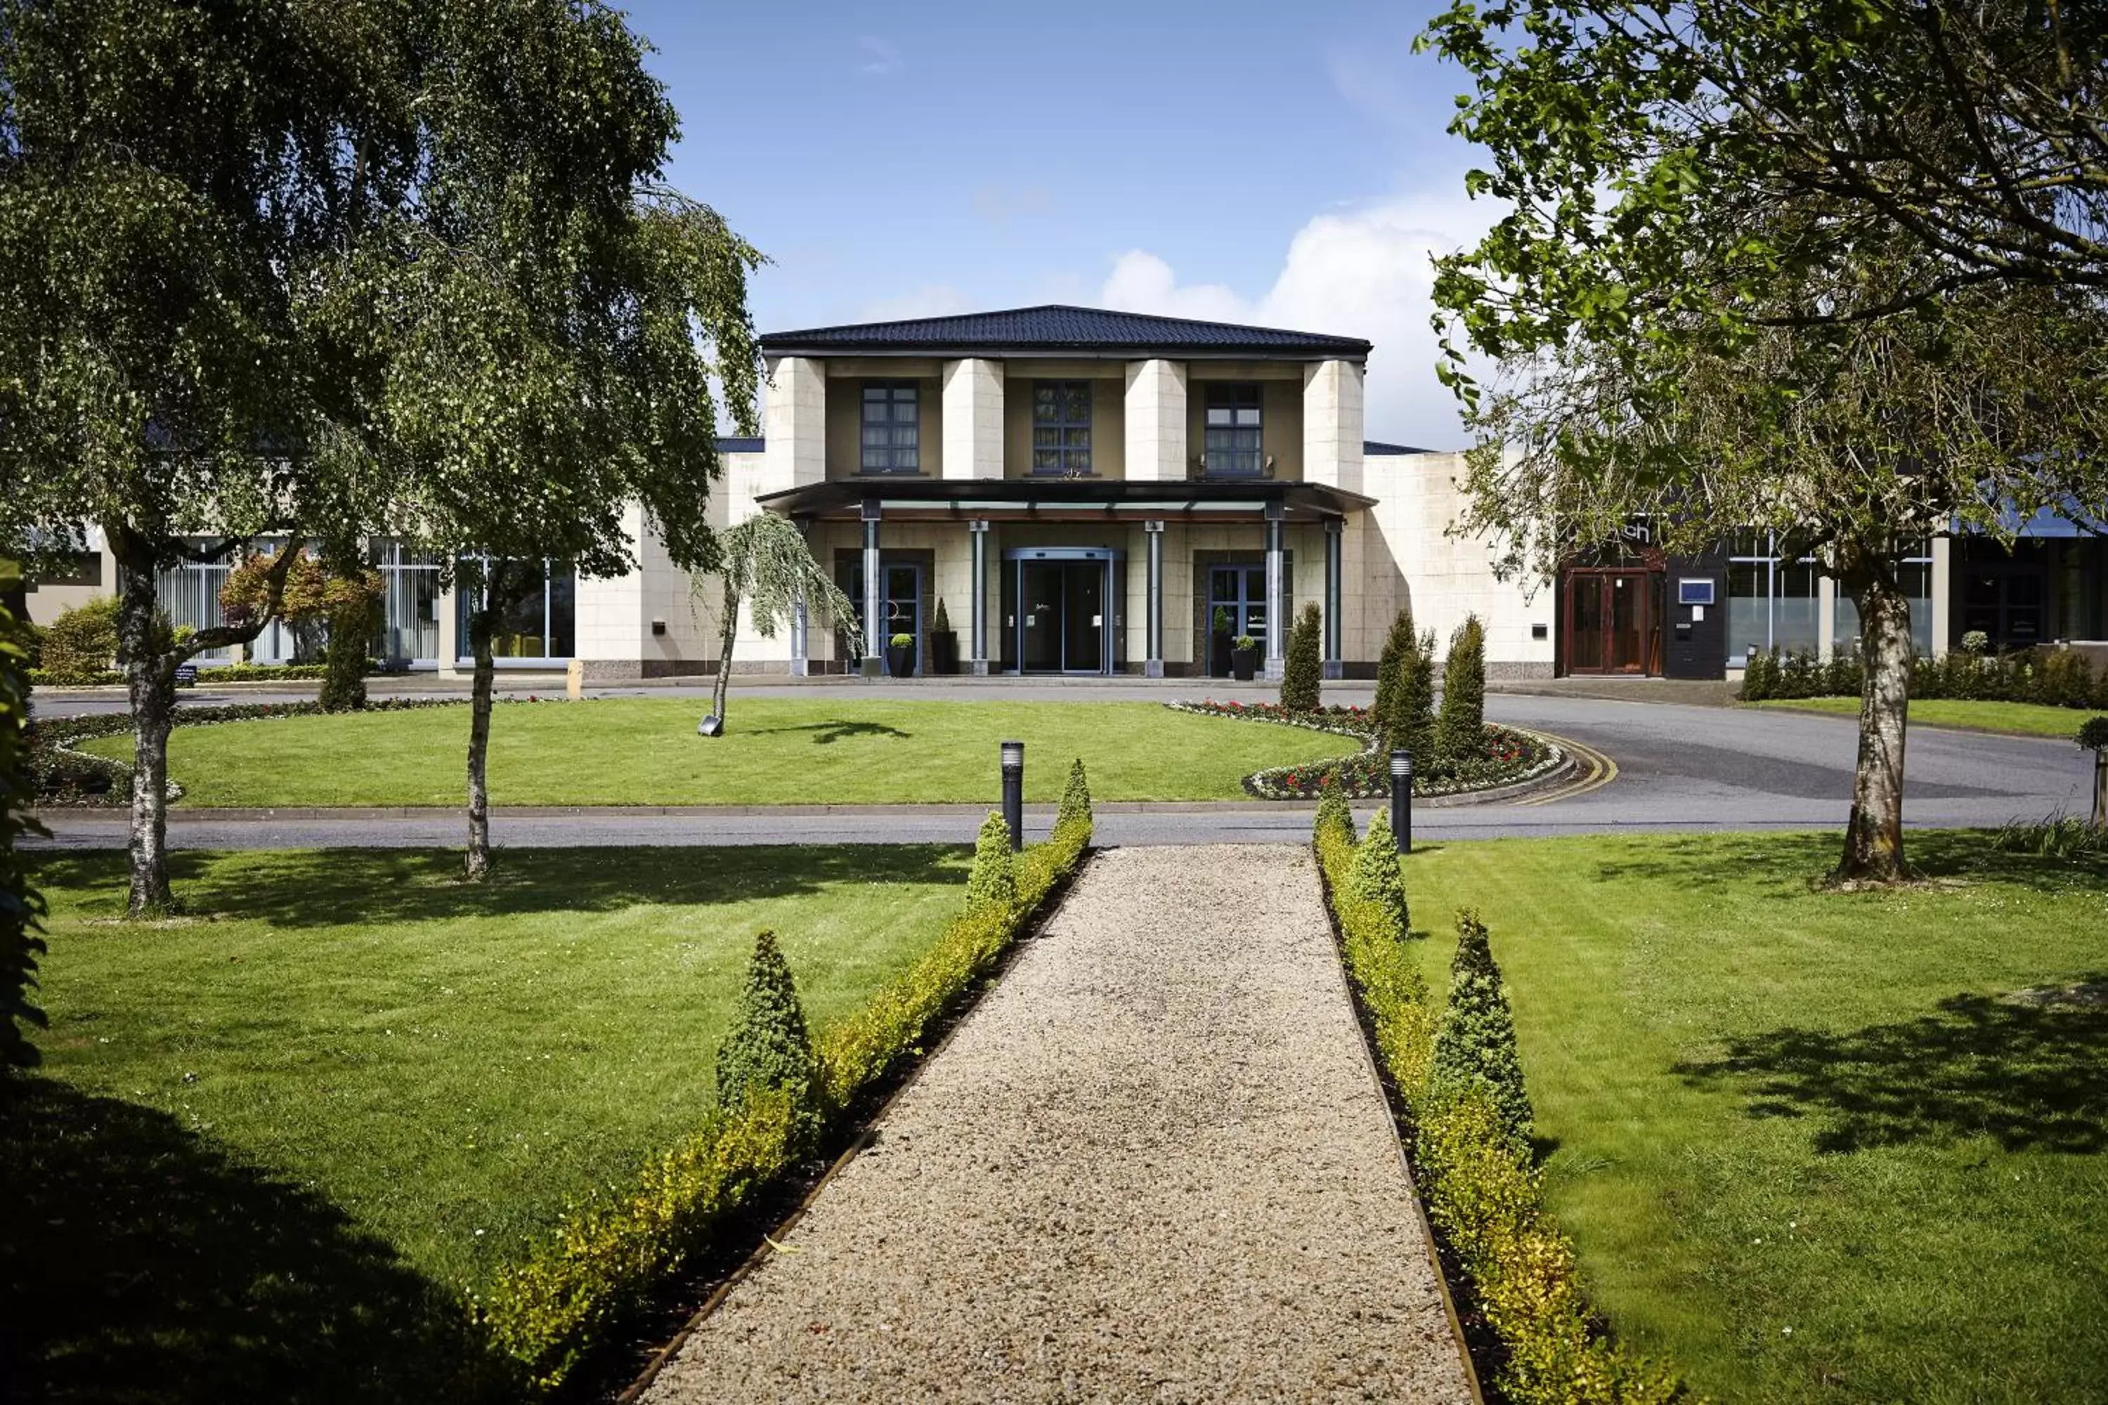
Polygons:
<instances>
[{"instance_id":1,"label":"low yellow-green hedge edging the right side of the gravel path","mask_svg":"<svg viewBox=\"0 0 2108 1405\"><path fill-rule=\"evenodd\" d=\"M1315 830L1326 899L1347 971L1377 1032L1377 1053L1406 1104L1414 1184L1486 1325L1507 1357L1499 1386L1516 1405L1655 1405L1682 1399L1674 1371L1608 1340L1589 1312L1573 1245L1543 1209L1537 1169L1518 1148L1486 1079L1436 1087L1440 1015L1410 948L1381 904L1353 895L1353 819L1324 805Z\"/></svg>"}]
</instances>

